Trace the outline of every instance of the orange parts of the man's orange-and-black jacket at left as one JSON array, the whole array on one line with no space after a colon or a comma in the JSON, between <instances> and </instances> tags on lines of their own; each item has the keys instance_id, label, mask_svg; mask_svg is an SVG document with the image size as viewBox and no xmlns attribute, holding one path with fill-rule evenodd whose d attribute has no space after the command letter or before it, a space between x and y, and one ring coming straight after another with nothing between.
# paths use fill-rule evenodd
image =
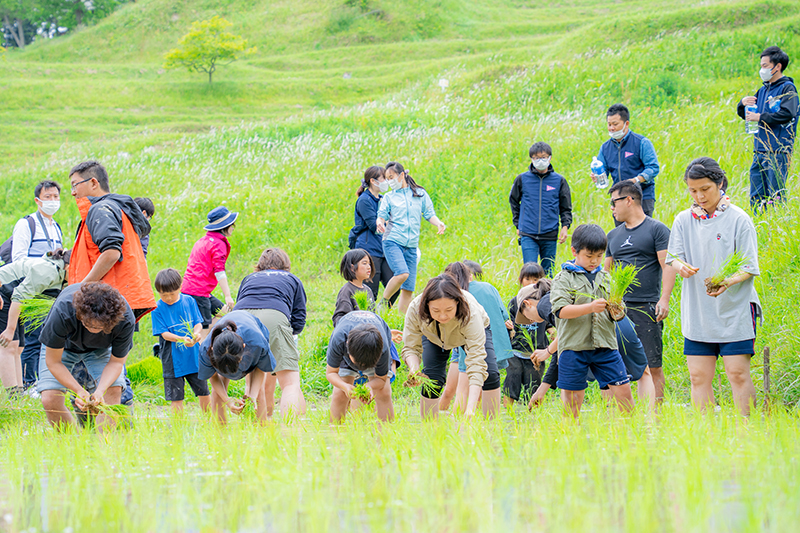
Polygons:
<instances>
[{"instance_id":1,"label":"orange parts of the man's orange-and-black jacket at left","mask_svg":"<svg viewBox=\"0 0 800 533\"><path fill-rule=\"evenodd\" d=\"M78 211L81 214L81 227L72 247L69 265L69 284L80 283L89 275L92 267L100 257L100 248L92 240L86 229L86 216L92 207L88 198L77 200ZM127 300L131 309L144 309L144 313L136 313L137 320L156 307L153 289L150 288L150 275L147 272L147 261L142 251L142 242L139 234L131 224L128 215L122 211L122 233L125 240L122 242L122 258L117 261L111 270L103 276L103 282L117 289Z\"/></svg>"}]
</instances>

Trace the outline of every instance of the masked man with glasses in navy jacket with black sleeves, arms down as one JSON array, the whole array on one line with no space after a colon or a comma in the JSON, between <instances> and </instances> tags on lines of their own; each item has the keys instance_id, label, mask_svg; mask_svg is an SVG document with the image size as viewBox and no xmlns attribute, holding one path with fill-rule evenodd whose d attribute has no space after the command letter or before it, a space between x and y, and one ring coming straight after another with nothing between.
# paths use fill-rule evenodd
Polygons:
<instances>
[{"instance_id":1,"label":"masked man with glasses in navy jacket with black sleeves, arms down","mask_svg":"<svg viewBox=\"0 0 800 533\"><path fill-rule=\"evenodd\" d=\"M557 243L566 242L572 224L572 194L567 180L550 164L553 149L549 144L534 143L528 155L528 170L511 186L511 215L523 263L538 262L552 275Z\"/></svg>"}]
</instances>

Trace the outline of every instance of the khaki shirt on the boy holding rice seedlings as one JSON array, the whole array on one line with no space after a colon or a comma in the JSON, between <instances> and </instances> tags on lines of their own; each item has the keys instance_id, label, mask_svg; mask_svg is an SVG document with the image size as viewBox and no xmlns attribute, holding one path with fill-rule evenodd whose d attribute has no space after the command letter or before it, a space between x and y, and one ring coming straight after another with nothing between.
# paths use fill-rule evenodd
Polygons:
<instances>
[{"instance_id":1,"label":"khaki shirt on the boy holding rice seedlings","mask_svg":"<svg viewBox=\"0 0 800 533\"><path fill-rule=\"evenodd\" d=\"M556 275L550 290L550 303L553 314L556 315L559 354L564 350L617 349L614 320L607 311L578 318L558 318L558 311L564 307L588 304L597 298L608 298L608 292L609 279L605 270L597 273L594 285L589 283L589 278L578 272L562 270Z\"/></svg>"}]
</instances>

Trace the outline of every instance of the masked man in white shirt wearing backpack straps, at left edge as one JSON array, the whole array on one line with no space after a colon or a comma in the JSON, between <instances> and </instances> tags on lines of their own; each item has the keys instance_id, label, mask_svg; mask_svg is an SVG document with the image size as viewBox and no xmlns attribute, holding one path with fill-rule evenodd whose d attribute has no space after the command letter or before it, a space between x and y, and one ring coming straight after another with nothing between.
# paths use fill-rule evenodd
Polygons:
<instances>
[{"instance_id":1,"label":"masked man in white shirt wearing backpack straps, at left edge","mask_svg":"<svg viewBox=\"0 0 800 533\"><path fill-rule=\"evenodd\" d=\"M4 263L19 261L25 257L42 257L64 247L61 226L53 220L53 215L61 207L61 186L55 181L40 181L33 191L36 211L27 215L14 226L12 237L0 246L0 259ZM58 292L47 294L56 297ZM27 329L27 324L25 325ZM27 389L36 382L39 374L39 331L27 331L22 360L22 384Z\"/></svg>"}]
</instances>

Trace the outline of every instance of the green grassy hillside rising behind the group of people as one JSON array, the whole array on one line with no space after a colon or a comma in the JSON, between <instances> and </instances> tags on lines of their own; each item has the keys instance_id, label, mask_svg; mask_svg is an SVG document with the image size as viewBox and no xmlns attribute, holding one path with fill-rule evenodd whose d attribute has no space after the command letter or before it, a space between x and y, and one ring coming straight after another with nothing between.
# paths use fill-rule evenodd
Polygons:
<instances>
[{"instance_id":1,"label":"green grassy hillside rising behind the group of people","mask_svg":"<svg viewBox=\"0 0 800 533\"><path fill-rule=\"evenodd\" d=\"M533 141L553 146L553 164L573 190L576 223L612 227L607 197L591 187L587 169L607 138L605 109L617 101L631 107L632 128L655 144L658 218L671 225L688 206L682 171L700 155L720 160L744 206L752 139L735 103L758 87L764 46L800 52L800 5L788 1L587 0L538 8L398 0L368 7L144 0L95 27L7 54L0 118L12 141L0 147L7 162L0 227L10 231L32 209L37 180L66 182L71 165L97 158L115 190L156 201L154 274L185 268L205 213L225 202L243 214L231 277L250 271L263 247L285 248L310 297L303 346L319 356L341 284L336 271L353 193L367 166L401 161L448 224L444 237L423 230L418 289L449 261L469 257L508 298L521 256L507 196ZM374 9L382 14L361 16ZM222 70L210 87L202 76L161 72L163 52L192 20L212 14L228 16L259 53ZM450 81L446 92L441 77ZM800 346L790 334L798 326L790 311L796 288L776 273L800 264L792 238L781 233L794 235L794 199L791 207L758 226L768 313L758 344L773 347L787 402L800 396ZM59 217L71 233L74 205L65 202ZM567 249L559 253L566 258ZM672 391L685 398L675 296L666 364ZM137 342L138 358L149 339ZM322 371L310 359L306 382L324 387Z\"/></svg>"}]
</instances>

